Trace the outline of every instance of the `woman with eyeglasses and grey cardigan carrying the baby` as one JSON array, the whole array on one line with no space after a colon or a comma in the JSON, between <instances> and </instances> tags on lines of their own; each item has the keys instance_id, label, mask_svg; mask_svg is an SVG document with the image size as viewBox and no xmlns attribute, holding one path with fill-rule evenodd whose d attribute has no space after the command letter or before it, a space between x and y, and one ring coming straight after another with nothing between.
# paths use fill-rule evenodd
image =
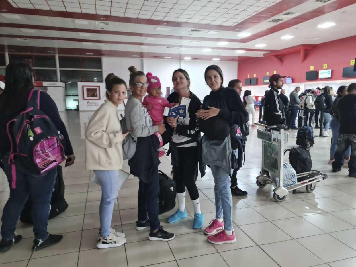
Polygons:
<instances>
[{"instance_id":1,"label":"woman with eyeglasses and grey cardigan carrying the baby","mask_svg":"<svg viewBox=\"0 0 356 267\"><path fill-rule=\"evenodd\" d=\"M142 98L146 95L149 83L145 73L141 71L130 74L129 96L125 106L125 120L130 134L137 137L136 153L129 160L130 173L140 180L138 185L138 220L136 230L150 228L149 240L169 241L174 234L163 230L158 220L158 165L157 156L159 146L155 132L162 134L166 131L164 124L153 126L147 109L142 105ZM147 219L147 214L149 219Z\"/></svg>"}]
</instances>

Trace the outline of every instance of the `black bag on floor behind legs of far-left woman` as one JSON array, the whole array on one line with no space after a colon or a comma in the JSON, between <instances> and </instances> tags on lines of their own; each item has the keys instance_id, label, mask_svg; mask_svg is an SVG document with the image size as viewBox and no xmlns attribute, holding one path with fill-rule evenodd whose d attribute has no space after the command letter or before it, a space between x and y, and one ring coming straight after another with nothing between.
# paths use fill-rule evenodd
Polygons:
<instances>
[{"instance_id":1,"label":"black bag on floor behind legs of far-left woman","mask_svg":"<svg viewBox=\"0 0 356 267\"><path fill-rule=\"evenodd\" d=\"M49 211L48 219L56 217L68 208L68 203L64 199L64 181L62 166L57 166L57 176L56 183L54 184L54 189L51 197L51 211ZM20 221L22 223L32 224L32 201L28 197L20 215Z\"/></svg>"}]
</instances>

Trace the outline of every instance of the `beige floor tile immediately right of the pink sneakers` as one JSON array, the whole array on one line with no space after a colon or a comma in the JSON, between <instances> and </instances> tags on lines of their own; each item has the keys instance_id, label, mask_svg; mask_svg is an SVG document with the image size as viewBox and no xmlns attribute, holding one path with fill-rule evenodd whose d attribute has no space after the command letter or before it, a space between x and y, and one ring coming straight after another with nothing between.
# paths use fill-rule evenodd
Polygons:
<instances>
[{"instance_id":1,"label":"beige floor tile immediately right of the pink sneakers","mask_svg":"<svg viewBox=\"0 0 356 267\"><path fill-rule=\"evenodd\" d=\"M292 239L276 225L267 221L264 223L241 225L244 231L257 245Z\"/></svg>"}]
</instances>

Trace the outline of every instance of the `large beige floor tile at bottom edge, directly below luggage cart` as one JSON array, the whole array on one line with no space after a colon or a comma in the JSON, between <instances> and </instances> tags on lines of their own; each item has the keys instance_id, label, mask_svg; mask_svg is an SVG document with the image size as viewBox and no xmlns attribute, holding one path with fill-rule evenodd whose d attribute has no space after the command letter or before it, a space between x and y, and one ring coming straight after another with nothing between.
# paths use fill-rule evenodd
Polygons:
<instances>
[{"instance_id":1,"label":"large beige floor tile at bottom edge, directly below luggage cart","mask_svg":"<svg viewBox=\"0 0 356 267\"><path fill-rule=\"evenodd\" d=\"M324 263L295 240L262 245L261 248L281 267L308 267Z\"/></svg>"}]
</instances>

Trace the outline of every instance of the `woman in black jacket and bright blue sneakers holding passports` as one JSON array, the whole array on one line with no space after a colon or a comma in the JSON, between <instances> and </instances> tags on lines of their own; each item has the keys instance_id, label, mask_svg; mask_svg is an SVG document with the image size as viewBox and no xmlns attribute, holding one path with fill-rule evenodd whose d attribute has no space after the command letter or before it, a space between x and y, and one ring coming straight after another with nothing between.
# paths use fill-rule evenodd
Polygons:
<instances>
[{"instance_id":1,"label":"woman in black jacket and bright blue sneakers holding passports","mask_svg":"<svg viewBox=\"0 0 356 267\"><path fill-rule=\"evenodd\" d=\"M168 96L169 103L187 104L185 118L167 117L166 121L173 129L170 149L172 153L173 180L176 182L178 209L168 218L168 223L175 223L187 217L185 209L185 187L194 207L193 229L203 226L204 216L200 210L199 191L195 180L198 166L198 143L200 136L197 112L201 102L190 90L190 78L184 69L174 70L172 75L174 92Z\"/></svg>"}]
</instances>

